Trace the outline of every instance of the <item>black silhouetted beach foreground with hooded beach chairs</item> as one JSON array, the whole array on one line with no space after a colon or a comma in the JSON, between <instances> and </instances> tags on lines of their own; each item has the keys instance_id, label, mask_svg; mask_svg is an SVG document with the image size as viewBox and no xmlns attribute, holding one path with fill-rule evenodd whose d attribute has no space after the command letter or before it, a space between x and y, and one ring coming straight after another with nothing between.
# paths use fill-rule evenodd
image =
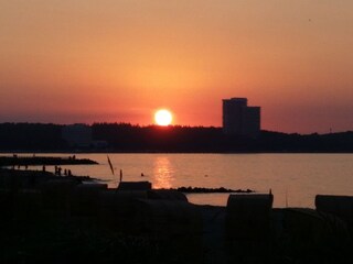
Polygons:
<instances>
[{"instance_id":1,"label":"black silhouetted beach foreground with hooded beach chairs","mask_svg":"<svg viewBox=\"0 0 353 264\"><path fill-rule=\"evenodd\" d=\"M117 189L47 172L0 169L0 263L352 263L353 197L317 210L270 194L195 206L148 182Z\"/></svg>"}]
</instances>

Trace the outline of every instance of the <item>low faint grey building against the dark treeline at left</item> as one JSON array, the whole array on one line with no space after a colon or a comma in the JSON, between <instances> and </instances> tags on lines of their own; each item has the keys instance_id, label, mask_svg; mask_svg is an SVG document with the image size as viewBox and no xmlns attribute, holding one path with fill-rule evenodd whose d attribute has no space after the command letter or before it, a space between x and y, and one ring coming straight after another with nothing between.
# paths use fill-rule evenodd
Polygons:
<instances>
[{"instance_id":1,"label":"low faint grey building against the dark treeline at left","mask_svg":"<svg viewBox=\"0 0 353 264\"><path fill-rule=\"evenodd\" d=\"M92 145L92 128L87 124L69 124L62 128L62 139L72 147Z\"/></svg>"}]
</instances>

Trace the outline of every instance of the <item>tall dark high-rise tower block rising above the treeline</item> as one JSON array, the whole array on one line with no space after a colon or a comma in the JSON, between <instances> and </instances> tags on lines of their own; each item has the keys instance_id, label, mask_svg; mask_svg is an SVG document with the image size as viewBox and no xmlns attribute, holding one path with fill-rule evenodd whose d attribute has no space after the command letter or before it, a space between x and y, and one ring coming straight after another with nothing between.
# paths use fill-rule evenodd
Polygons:
<instances>
[{"instance_id":1,"label":"tall dark high-rise tower block rising above the treeline","mask_svg":"<svg viewBox=\"0 0 353 264\"><path fill-rule=\"evenodd\" d=\"M248 107L247 98L223 99L223 132L257 138L260 133L260 107Z\"/></svg>"}]
</instances>

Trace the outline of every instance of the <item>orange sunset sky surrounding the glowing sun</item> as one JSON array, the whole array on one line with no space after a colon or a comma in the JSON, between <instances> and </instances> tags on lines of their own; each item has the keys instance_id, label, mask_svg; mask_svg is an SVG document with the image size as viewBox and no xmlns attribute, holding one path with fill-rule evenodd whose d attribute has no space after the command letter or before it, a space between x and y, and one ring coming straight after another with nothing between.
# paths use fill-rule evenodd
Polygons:
<instances>
[{"instance_id":1,"label":"orange sunset sky surrounding the glowing sun","mask_svg":"<svg viewBox=\"0 0 353 264\"><path fill-rule=\"evenodd\" d=\"M0 0L0 122L353 130L352 0Z\"/></svg>"}]
</instances>

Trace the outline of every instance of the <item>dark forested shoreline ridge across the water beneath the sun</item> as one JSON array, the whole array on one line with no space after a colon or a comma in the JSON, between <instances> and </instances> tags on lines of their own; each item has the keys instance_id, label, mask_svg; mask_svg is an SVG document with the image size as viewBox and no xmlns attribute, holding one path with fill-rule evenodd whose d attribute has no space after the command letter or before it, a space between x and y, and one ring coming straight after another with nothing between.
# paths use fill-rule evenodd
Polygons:
<instances>
[{"instance_id":1,"label":"dark forested shoreline ridge across the water beneath the sun","mask_svg":"<svg viewBox=\"0 0 353 264\"><path fill-rule=\"evenodd\" d=\"M92 144L71 145L62 138L65 125L0 123L1 152L351 152L353 132L286 134L261 131L258 139L224 135L221 128L139 127L128 123L95 123ZM96 144L97 142L105 144Z\"/></svg>"}]
</instances>

